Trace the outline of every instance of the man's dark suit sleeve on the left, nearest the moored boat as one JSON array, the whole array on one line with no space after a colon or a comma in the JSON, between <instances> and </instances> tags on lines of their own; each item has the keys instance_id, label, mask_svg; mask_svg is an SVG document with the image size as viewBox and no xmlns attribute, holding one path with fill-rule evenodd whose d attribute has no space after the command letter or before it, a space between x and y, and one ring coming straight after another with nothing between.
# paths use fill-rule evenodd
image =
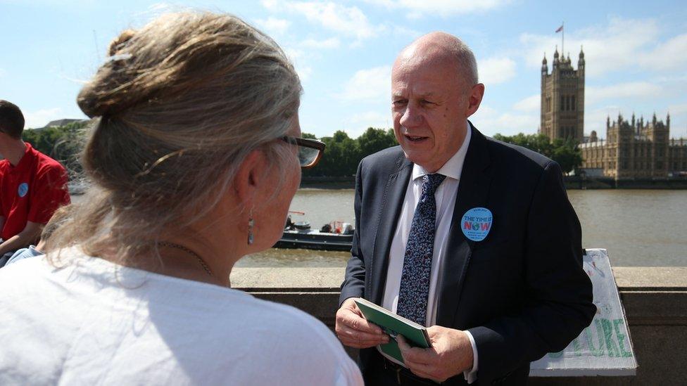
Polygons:
<instances>
[{"instance_id":1,"label":"man's dark suit sleeve on the left, nearest the moored boat","mask_svg":"<svg viewBox=\"0 0 687 386\"><path fill-rule=\"evenodd\" d=\"M353 233L353 245L351 246L351 259L346 264L346 277L341 284L341 303L349 297L363 297L365 295L365 259L360 248L360 208L363 205L363 161L358 165L355 173L355 231Z\"/></svg>"}]
</instances>

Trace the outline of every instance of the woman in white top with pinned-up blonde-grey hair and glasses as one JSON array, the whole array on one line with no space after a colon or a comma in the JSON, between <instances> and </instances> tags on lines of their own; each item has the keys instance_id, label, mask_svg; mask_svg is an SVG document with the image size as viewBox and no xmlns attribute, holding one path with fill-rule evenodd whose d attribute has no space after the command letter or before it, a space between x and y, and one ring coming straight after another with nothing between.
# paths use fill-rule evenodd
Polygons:
<instances>
[{"instance_id":1,"label":"woman in white top with pinned-up blonde-grey hair and glasses","mask_svg":"<svg viewBox=\"0 0 687 386\"><path fill-rule=\"evenodd\" d=\"M232 15L175 13L109 54L77 98L92 188L45 258L0 271L0 384L362 384L322 323L229 288L324 149L300 138L282 50Z\"/></svg>"}]
</instances>

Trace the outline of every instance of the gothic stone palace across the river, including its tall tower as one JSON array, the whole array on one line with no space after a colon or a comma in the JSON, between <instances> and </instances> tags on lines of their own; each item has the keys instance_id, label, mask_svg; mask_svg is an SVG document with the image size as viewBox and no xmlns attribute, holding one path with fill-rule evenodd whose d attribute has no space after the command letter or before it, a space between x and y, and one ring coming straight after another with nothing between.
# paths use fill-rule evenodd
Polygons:
<instances>
[{"instance_id":1,"label":"gothic stone palace across the river, including its tall tower","mask_svg":"<svg viewBox=\"0 0 687 386\"><path fill-rule=\"evenodd\" d=\"M553 54L551 73L546 56L541 63L541 125L539 132L554 139L574 139L582 151L586 176L614 179L657 178L687 174L687 139L669 139L670 115L665 122L618 115L606 119L606 139L596 131L584 136L584 52L577 70L570 56Z\"/></svg>"}]
</instances>

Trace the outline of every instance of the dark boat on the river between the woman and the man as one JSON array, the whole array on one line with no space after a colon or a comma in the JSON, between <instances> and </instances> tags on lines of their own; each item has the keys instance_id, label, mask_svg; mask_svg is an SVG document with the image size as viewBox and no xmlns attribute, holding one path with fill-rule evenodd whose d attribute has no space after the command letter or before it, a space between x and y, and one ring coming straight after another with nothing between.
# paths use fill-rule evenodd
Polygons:
<instances>
[{"instance_id":1,"label":"dark boat on the river between the woman and the man","mask_svg":"<svg viewBox=\"0 0 687 386\"><path fill-rule=\"evenodd\" d=\"M292 222L287 219L284 234L273 248L301 248L306 250L350 251L353 243L353 226L341 221L325 224L319 231L310 229L308 221Z\"/></svg>"}]
</instances>

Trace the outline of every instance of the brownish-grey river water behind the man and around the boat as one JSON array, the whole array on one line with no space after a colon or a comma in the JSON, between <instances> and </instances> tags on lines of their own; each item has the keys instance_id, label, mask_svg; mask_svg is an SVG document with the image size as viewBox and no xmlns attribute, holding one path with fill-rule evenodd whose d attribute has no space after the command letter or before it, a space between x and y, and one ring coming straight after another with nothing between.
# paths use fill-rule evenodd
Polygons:
<instances>
[{"instance_id":1,"label":"brownish-grey river water behind the man and around the boat","mask_svg":"<svg viewBox=\"0 0 687 386\"><path fill-rule=\"evenodd\" d=\"M614 266L687 266L687 191L568 191L582 224L582 245L606 248ZM341 220L353 223L353 189L298 190L294 221L313 228ZM271 249L237 266L345 266L348 252Z\"/></svg>"}]
</instances>

